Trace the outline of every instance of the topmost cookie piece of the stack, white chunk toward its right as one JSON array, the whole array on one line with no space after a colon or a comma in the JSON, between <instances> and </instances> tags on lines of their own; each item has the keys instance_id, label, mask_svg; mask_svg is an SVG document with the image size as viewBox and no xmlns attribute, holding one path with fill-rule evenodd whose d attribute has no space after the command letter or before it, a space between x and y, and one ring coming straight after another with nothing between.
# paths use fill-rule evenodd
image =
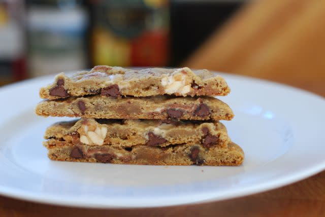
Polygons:
<instances>
[{"instance_id":1,"label":"topmost cookie piece of the stack, white chunk toward its right","mask_svg":"<svg viewBox=\"0 0 325 217\"><path fill-rule=\"evenodd\" d=\"M100 65L72 76L58 74L53 84L41 88L40 96L43 99L93 94L111 97L163 94L224 96L229 92L224 79L206 69L127 69Z\"/></svg>"}]
</instances>

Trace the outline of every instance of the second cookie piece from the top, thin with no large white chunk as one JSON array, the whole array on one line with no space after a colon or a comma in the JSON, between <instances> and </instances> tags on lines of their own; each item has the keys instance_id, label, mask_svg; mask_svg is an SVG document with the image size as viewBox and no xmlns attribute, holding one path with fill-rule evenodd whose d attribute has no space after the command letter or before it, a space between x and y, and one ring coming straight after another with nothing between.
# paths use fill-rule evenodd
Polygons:
<instances>
[{"instance_id":1,"label":"second cookie piece from the top, thin with no large white chunk","mask_svg":"<svg viewBox=\"0 0 325 217\"><path fill-rule=\"evenodd\" d=\"M55 117L84 117L105 119L179 119L231 120L231 108L213 97L69 97L44 100L36 114Z\"/></svg>"}]
</instances>

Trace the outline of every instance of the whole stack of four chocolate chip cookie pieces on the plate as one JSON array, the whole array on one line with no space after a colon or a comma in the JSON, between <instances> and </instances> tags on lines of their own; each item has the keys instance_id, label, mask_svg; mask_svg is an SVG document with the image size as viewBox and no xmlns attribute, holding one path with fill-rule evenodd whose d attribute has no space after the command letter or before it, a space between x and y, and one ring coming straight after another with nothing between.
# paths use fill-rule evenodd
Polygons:
<instances>
[{"instance_id":1,"label":"whole stack of four chocolate chip cookie pieces on the plate","mask_svg":"<svg viewBox=\"0 0 325 217\"><path fill-rule=\"evenodd\" d=\"M233 111L212 97L229 92L205 69L95 66L41 88L36 114L80 118L46 130L52 160L240 165L244 153L219 122Z\"/></svg>"}]
</instances>

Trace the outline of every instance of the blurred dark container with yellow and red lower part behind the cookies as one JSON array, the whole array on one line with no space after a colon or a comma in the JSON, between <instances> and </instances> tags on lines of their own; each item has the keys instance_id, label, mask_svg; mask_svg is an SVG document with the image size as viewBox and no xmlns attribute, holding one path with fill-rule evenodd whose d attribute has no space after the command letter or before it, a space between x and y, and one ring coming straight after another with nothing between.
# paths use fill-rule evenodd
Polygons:
<instances>
[{"instance_id":1,"label":"blurred dark container with yellow and red lower part behind the cookies","mask_svg":"<svg viewBox=\"0 0 325 217\"><path fill-rule=\"evenodd\" d=\"M91 7L93 65L165 66L169 51L166 0L98 0Z\"/></svg>"}]
</instances>

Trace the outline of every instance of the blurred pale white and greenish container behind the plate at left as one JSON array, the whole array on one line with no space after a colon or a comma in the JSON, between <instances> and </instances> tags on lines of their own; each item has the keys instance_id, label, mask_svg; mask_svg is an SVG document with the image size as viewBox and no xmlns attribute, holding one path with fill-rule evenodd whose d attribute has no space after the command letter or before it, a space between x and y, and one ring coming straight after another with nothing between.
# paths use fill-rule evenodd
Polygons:
<instances>
[{"instance_id":1,"label":"blurred pale white and greenish container behind the plate at left","mask_svg":"<svg viewBox=\"0 0 325 217\"><path fill-rule=\"evenodd\" d=\"M28 67L32 77L84 69L88 13L83 1L27 1Z\"/></svg>"}]
</instances>

